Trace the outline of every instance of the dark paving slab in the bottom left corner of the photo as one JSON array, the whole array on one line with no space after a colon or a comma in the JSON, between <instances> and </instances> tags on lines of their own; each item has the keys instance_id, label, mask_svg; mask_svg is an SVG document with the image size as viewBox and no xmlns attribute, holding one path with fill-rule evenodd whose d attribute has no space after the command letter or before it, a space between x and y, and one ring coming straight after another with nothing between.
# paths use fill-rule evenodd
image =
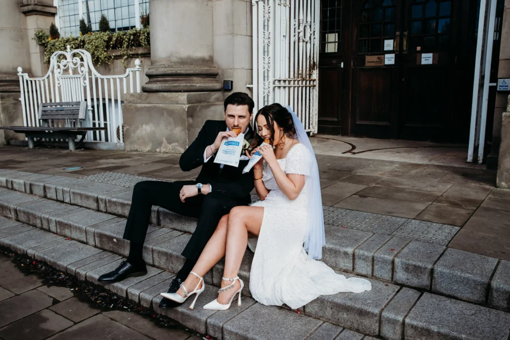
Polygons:
<instances>
[{"instance_id":1,"label":"dark paving slab in the bottom left corner of the photo","mask_svg":"<svg viewBox=\"0 0 510 340\"><path fill-rule=\"evenodd\" d=\"M43 309L0 329L5 340L42 340L74 325L51 310Z\"/></svg>"}]
</instances>

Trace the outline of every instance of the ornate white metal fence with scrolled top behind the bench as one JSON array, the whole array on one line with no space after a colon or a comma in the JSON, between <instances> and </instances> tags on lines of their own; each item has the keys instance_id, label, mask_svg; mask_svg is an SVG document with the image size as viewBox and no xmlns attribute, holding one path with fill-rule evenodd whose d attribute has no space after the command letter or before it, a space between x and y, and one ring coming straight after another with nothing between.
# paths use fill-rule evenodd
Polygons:
<instances>
[{"instance_id":1,"label":"ornate white metal fence with scrolled top behind the bench","mask_svg":"<svg viewBox=\"0 0 510 340\"><path fill-rule=\"evenodd\" d=\"M101 75L84 49L55 52L42 77L30 77L18 67L21 107L25 126L39 126L39 106L46 102L87 101L83 126L107 127L89 132L86 142L123 143L121 94L141 92L140 60L120 75ZM62 121L61 126L73 122Z\"/></svg>"}]
</instances>

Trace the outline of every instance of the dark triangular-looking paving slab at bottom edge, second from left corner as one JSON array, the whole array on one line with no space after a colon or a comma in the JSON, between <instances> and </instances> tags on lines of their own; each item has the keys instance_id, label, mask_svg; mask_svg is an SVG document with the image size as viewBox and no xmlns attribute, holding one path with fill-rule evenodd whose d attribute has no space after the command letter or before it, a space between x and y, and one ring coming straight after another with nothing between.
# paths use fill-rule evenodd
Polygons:
<instances>
[{"instance_id":1,"label":"dark triangular-looking paving slab at bottom edge, second from left corner","mask_svg":"<svg viewBox=\"0 0 510 340\"><path fill-rule=\"evenodd\" d=\"M50 337L48 340L69 339L149 340L150 338L103 315L96 315Z\"/></svg>"}]
</instances>

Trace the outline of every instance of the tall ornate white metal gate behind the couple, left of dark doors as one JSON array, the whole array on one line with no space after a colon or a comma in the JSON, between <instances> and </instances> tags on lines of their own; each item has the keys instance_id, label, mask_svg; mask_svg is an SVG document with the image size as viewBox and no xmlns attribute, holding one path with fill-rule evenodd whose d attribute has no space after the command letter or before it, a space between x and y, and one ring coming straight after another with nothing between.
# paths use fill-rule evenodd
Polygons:
<instances>
[{"instance_id":1,"label":"tall ornate white metal gate behind the couple, left of dark doors","mask_svg":"<svg viewBox=\"0 0 510 340\"><path fill-rule=\"evenodd\" d=\"M290 105L317 133L319 0L252 0L255 109Z\"/></svg>"}]
</instances>

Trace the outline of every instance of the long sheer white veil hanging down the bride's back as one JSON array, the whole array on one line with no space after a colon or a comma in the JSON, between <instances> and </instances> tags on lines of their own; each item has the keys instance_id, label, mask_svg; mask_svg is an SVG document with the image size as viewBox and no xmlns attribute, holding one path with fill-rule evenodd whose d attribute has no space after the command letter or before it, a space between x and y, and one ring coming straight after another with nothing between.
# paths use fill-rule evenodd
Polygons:
<instances>
[{"instance_id":1,"label":"long sheer white veil hanging down the bride's back","mask_svg":"<svg viewBox=\"0 0 510 340\"><path fill-rule=\"evenodd\" d=\"M310 140L308 139L307 132L305 131L303 124L292 111L290 106L287 106L287 110L292 115L294 121L294 127L296 128L296 138L299 143L306 146L311 154L312 169L310 171L310 178L307 178L304 182L304 188L306 189L309 197L309 210L308 210L308 235L304 240L304 249L308 252L310 259L320 259L322 257L322 246L326 244L326 238L324 236L324 215L322 213L322 197L320 193L320 181L319 181L319 167L317 166L317 160L315 159L314 149Z\"/></svg>"}]
</instances>

